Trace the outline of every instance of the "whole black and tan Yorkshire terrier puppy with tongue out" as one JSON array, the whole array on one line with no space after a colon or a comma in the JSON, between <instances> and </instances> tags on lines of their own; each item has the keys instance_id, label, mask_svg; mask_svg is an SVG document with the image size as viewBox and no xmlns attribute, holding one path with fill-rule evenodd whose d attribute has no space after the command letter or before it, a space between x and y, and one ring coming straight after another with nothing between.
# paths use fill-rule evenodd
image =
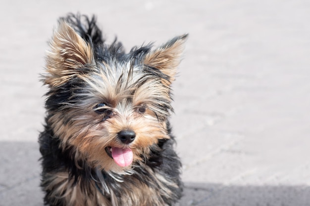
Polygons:
<instances>
[{"instance_id":1,"label":"whole black and tan Yorkshire terrier puppy with tongue out","mask_svg":"<svg viewBox=\"0 0 310 206\"><path fill-rule=\"evenodd\" d=\"M173 206L181 163L168 122L187 35L129 53L93 16L60 18L50 41L39 137L45 205Z\"/></svg>"}]
</instances>

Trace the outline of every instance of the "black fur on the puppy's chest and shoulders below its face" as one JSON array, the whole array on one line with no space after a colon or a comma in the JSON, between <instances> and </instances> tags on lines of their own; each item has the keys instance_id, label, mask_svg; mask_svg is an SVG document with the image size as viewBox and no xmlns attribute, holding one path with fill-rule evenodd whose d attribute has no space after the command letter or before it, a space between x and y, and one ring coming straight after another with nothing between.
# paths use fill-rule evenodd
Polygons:
<instances>
[{"instance_id":1,"label":"black fur on the puppy's chest and shoulders below its face","mask_svg":"<svg viewBox=\"0 0 310 206\"><path fill-rule=\"evenodd\" d=\"M70 178L74 179L75 183L77 183L79 180L82 190L86 195L90 195L92 190L89 189L89 187L91 187L89 180L96 177L96 171L94 168L91 168L89 165L87 165L86 162L83 161L78 164L82 166L83 169L80 169L76 166L74 160L75 148L69 147L65 150L62 150L59 145L59 138L54 136L52 129L49 126L46 126L45 131L40 134L39 143L40 152L42 154L41 160L43 166L43 180L45 179L45 175L47 173L55 171L68 171ZM174 205L174 203L181 198L183 191L183 184L179 177L179 168L181 167L181 162L172 149L174 143L175 141L173 136L171 136L171 139L159 140L157 145L152 146L150 158L145 160L146 165L150 166L156 172L162 174L165 178L172 180L178 185L177 188L165 185L165 187L168 187L171 191L173 191L173 196L170 196L169 199L167 199L165 196L161 197L169 206ZM121 178L123 181L134 182L133 179L136 179L151 188L157 190L162 189L158 184L156 184L156 181L148 173L148 171L144 169L144 165L134 165L134 171L135 172L132 175L122 175ZM125 188L122 183L105 174L105 171L102 171L102 173L106 185L114 191L116 196L121 196L123 194L123 190L131 189ZM47 187L48 182L43 181L41 186L43 188ZM100 190L100 188L98 189ZM66 206L65 203L61 201L61 199L52 196L51 190L46 190L45 192L45 205Z\"/></svg>"}]
</instances>

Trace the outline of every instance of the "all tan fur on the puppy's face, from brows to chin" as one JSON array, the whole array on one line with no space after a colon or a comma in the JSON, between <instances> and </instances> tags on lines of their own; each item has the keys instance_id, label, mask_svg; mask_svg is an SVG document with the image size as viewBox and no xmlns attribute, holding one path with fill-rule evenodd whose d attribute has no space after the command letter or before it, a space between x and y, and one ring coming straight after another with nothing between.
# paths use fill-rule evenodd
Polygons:
<instances>
[{"instance_id":1,"label":"all tan fur on the puppy's face, from brows to chin","mask_svg":"<svg viewBox=\"0 0 310 206\"><path fill-rule=\"evenodd\" d=\"M108 72L107 72L108 73ZM124 71L122 71L124 73ZM110 76L111 75L111 76ZM61 138L62 147L75 146L81 152L81 157L86 158L90 165L104 170L124 170L107 156L104 148L109 146L124 147L117 139L117 133L123 129L132 129L136 132L136 139L130 145L134 153L134 161L141 161L140 154L148 151L148 147L157 143L158 138L169 136L166 132L165 122L158 122L154 112L158 112L156 98L166 98L170 102L169 89L159 83L159 80L149 80L148 83L136 87L122 87L115 91L115 74L101 74L97 77L88 74L77 74L87 82L89 98L80 106L75 105L72 110L66 111L69 124L63 124L63 113L57 112L49 119L56 136ZM120 75L120 74L119 74ZM141 75L141 74L140 74ZM99 78L98 78L99 77ZM102 79L101 79L102 78ZM132 85L135 80L128 80ZM132 90L135 93L131 95ZM132 98L132 105L126 106L126 99ZM154 102L153 102L154 101ZM101 102L111 104L114 111L113 118L101 123L102 116L94 111L94 106ZM145 106L145 114L136 112L136 108ZM169 114L164 114L168 116ZM146 153L147 155L147 153Z\"/></svg>"}]
</instances>

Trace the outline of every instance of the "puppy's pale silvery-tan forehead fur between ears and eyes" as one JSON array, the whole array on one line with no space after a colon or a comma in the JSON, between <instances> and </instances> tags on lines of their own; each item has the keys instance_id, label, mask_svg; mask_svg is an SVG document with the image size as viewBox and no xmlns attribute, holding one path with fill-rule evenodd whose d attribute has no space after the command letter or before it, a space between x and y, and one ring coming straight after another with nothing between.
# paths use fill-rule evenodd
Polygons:
<instances>
[{"instance_id":1,"label":"puppy's pale silvery-tan forehead fur between ears and eyes","mask_svg":"<svg viewBox=\"0 0 310 206\"><path fill-rule=\"evenodd\" d=\"M150 70L150 68L149 68ZM98 62L91 76L83 78L92 101L116 105L126 100L133 104L165 96L168 88L155 72L132 62Z\"/></svg>"}]
</instances>

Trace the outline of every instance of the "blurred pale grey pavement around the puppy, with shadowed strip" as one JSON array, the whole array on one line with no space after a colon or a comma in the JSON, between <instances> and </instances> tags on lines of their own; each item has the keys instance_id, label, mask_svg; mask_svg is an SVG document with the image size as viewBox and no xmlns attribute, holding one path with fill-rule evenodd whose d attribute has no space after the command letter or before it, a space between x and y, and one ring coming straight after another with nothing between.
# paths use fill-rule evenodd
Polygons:
<instances>
[{"instance_id":1,"label":"blurred pale grey pavement around the puppy, with shadowed strip","mask_svg":"<svg viewBox=\"0 0 310 206\"><path fill-rule=\"evenodd\" d=\"M309 0L1 0L0 206L42 206L39 82L59 16L127 51L189 33L174 87L180 206L310 206Z\"/></svg>"}]
</instances>

